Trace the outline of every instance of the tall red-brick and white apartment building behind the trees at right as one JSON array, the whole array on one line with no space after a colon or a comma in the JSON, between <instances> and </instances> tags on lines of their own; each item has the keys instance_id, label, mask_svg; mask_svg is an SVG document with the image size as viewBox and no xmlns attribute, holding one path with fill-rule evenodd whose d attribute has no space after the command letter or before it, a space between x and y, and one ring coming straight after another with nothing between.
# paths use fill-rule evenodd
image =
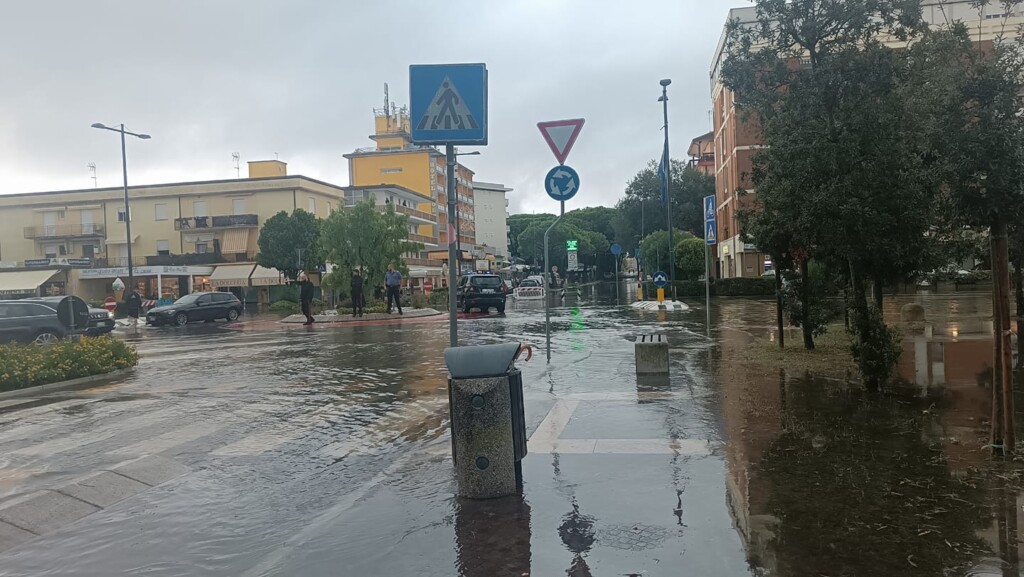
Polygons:
<instances>
[{"instance_id":1,"label":"tall red-brick and white apartment building behind the trees at right","mask_svg":"<svg viewBox=\"0 0 1024 577\"><path fill-rule=\"evenodd\" d=\"M925 0L924 17L933 26L961 20L972 29L972 37L978 42L991 41L997 34L1015 35L1024 24L1024 13L1006 14L997 2L982 8L973 6L971 0ZM757 22L754 6L733 8L727 22L736 20L740 26L752 26ZM753 157L761 148L761 134L756 120L744 120L736 114L732 92L721 82L720 71L726 48L727 28L715 50L711 68L711 97L713 102L714 174L716 200L718 204L719 245L716 258L717 274L721 278L758 277L771 267L767 255L758 247L744 243L740 238L739 210L749 208L757 191L750 180ZM894 44L897 41L894 40ZM703 137L701 137L702 139ZM694 140L697 143L697 140ZM700 149L702 150L702 149ZM694 148L691 145L691 156ZM699 164L699 163L698 163ZM742 190L752 195L740 196Z\"/></svg>"}]
</instances>

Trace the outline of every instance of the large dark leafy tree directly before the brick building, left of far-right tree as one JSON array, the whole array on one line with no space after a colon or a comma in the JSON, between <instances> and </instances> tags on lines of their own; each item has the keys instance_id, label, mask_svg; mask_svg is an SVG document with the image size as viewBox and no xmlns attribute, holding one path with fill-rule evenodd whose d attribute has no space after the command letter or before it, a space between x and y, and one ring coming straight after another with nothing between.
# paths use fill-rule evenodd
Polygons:
<instances>
[{"instance_id":1,"label":"large dark leafy tree directly before the brick building, left of far-right tree","mask_svg":"<svg viewBox=\"0 0 1024 577\"><path fill-rule=\"evenodd\" d=\"M868 386L895 368L868 359L894 360L896 344L868 310L867 283L880 289L919 270L934 222L937 187L921 141L928 117L907 106L906 52L882 43L925 28L920 4L757 0L756 26L730 25L723 67L723 81L741 113L756 118L765 145L752 174L764 211L757 229L792 234L805 290L813 286L811 260L849 270L854 356ZM780 251L782 239L766 240ZM803 324L813 347L813 323Z\"/></svg>"}]
</instances>

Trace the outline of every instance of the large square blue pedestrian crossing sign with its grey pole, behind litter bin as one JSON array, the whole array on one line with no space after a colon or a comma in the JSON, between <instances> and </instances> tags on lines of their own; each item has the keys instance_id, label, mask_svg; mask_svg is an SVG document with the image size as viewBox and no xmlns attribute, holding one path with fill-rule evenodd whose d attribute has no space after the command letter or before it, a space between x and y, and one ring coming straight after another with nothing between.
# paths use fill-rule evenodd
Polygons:
<instances>
[{"instance_id":1,"label":"large square blue pedestrian crossing sign with its grey pole, behind litter bin","mask_svg":"<svg viewBox=\"0 0 1024 577\"><path fill-rule=\"evenodd\" d=\"M482 64L413 65L409 67L409 110L414 145L444 145L449 242L449 341L459 345L456 283L459 257L456 145L487 143L487 67Z\"/></svg>"}]
</instances>

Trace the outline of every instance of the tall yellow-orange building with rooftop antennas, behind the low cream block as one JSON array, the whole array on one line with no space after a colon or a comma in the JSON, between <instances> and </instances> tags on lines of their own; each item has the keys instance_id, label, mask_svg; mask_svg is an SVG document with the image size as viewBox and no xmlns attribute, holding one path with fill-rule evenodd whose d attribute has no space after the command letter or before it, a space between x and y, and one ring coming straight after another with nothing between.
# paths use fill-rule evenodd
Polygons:
<instances>
[{"instance_id":1,"label":"tall yellow-orange building with rooftop antennas, behind the low cream block","mask_svg":"<svg viewBox=\"0 0 1024 577\"><path fill-rule=\"evenodd\" d=\"M412 143L406 109L376 110L374 123L375 133L370 138L376 146L345 155L348 159L349 183L353 188L391 184L417 195L416 206L409 208L435 218L430 223L418 222L415 237L410 238L425 245L419 260L427 261L434 269L433 264L439 262L430 259L430 253L439 256L446 250L449 239L444 155L433 147ZM463 249L469 250L476 244L473 171L461 164L456 169L456 192L459 219L455 224ZM430 242L425 239L430 239ZM446 254L444 258L446 259ZM420 272L413 270L413 273L415 278Z\"/></svg>"}]
</instances>

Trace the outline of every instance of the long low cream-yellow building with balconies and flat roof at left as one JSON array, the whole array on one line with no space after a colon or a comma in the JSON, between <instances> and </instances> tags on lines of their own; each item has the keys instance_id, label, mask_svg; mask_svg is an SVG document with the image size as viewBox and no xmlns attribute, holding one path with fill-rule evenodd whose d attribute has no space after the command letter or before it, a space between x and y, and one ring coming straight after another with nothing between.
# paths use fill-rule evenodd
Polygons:
<instances>
[{"instance_id":1,"label":"long low cream-yellow building with balconies and flat roof at left","mask_svg":"<svg viewBox=\"0 0 1024 577\"><path fill-rule=\"evenodd\" d=\"M289 176L281 161L249 163L249 178L129 188L132 266L146 298L196 290L280 284L257 267L259 228L301 208L321 218L345 189ZM124 190L85 189L0 196L0 298L112 295L127 282ZM245 264L240 264L245 263Z\"/></svg>"}]
</instances>

